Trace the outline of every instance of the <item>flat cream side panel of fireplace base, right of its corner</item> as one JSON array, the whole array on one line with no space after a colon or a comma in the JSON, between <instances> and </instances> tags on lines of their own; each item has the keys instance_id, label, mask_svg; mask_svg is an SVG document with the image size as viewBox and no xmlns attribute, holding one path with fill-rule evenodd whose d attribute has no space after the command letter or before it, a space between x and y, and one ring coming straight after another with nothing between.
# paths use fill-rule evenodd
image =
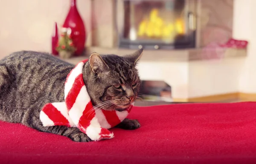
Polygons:
<instances>
[{"instance_id":1,"label":"flat cream side panel of fireplace base, right of its corner","mask_svg":"<svg viewBox=\"0 0 256 164\"><path fill-rule=\"evenodd\" d=\"M188 98L239 92L242 58L189 62Z\"/></svg>"}]
</instances>

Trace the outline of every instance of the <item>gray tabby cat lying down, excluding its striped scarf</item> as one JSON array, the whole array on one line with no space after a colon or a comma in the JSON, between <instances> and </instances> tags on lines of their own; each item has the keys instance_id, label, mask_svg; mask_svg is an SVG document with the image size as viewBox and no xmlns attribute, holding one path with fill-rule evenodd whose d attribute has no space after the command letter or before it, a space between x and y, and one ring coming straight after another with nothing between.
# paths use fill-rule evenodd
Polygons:
<instances>
[{"instance_id":1,"label":"gray tabby cat lying down, excluding its striped scarf","mask_svg":"<svg viewBox=\"0 0 256 164\"><path fill-rule=\"evenodd\" d=\"M135 65L143 49L132 55L93 53L84 64L83 78L94 106L125 110L140 88ZM67 136L73 141L91 141L76 127L43 127L39 114L47 103L64 101L64 83L74 65L51 55L22 51L0 60L0 120L21 123L41 132ZM137 120L125 119L116 127L137 129Z\"/></svg>"}]
</instances>

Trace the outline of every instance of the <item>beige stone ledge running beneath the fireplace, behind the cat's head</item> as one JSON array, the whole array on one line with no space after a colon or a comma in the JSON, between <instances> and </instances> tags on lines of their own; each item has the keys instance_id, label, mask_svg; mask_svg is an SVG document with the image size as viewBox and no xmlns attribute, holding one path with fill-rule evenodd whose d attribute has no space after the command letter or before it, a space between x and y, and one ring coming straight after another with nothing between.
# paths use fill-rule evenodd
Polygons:
<instances>
[{"instance_id":1,"label":"beige stone ledge running beneath the fireplace, behind the cat's head","mask_svg":"<svg viewBox=\"0 0 256 164\"><path fill-rule=\"evenodd\" d=\"M118 49L118 48L102 48L102 47L88 47L84 56L73 57L65 59L65 61L76 64L81 60L88 59L90 54L97 52L99 54L116 54L127 55L135 52L134 49ZM144 50L140 61L144 62L181 62L194 60L210 60L210 59L224 59L237 58L247 56L246 49L224 49L222 53L218 51L214 53L212 49L181 49L181 50Z\"/></svg>"}]
</instances>

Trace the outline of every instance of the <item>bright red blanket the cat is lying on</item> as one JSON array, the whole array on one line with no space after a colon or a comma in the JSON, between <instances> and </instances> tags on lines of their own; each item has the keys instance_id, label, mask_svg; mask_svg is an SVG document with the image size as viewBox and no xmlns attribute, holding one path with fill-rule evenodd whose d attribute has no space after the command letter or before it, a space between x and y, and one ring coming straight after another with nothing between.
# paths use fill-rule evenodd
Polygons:
<instances>
[{"instance_id":1,"label":"bright red blanket the cat is lying on","mask_svg":"<svg viewBox=\"0 0 256 164\"><path fill-rule=\"evenodd\" d=\"M0 122L0 164L256 164L256 103L134 107L136 130L76 143Z\"/></svg>"}]
</instances>

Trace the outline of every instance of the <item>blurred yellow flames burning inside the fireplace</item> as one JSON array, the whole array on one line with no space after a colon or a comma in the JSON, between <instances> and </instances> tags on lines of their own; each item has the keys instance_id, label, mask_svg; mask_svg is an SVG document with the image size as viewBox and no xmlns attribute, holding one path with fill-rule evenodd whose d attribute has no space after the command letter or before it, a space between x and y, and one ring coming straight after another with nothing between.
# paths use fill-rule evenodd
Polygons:
<instances>
[{"instance_id":1,"label":"blurred yellow flames burning inside the fireplace","mask_svg":"<svg viewBox=\"0 0 256 164\"><path fill-rule=\"evenodd\" d=\"M158 9L152 9L149 17L139 24L137 35L140 37L169 38L175 34L184 34L184 23L177 19L175 23L168 23L159 16Z\"/></svg>"}]
</instances>

